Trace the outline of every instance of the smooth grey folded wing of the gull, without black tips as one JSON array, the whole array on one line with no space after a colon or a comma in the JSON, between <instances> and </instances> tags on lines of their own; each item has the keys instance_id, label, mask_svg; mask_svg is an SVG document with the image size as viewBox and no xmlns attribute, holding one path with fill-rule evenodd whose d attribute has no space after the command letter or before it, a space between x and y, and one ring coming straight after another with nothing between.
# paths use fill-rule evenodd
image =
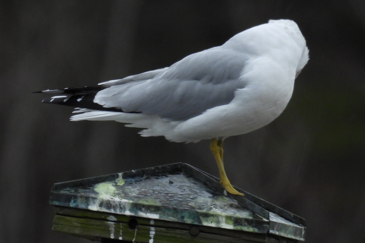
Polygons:
<instances>
[{"instance_id":1,"label":"smooth grey folded wing of the gull, without black tips","mask_svg":"<svg viewBox=\"0 0 365 243\"><path fill-rule=\"evenodd\" d=\"M114 85L99 91L94 102L124 112L142 112L161 118L186 120L228 104L237 89L247 56L211 48L185 57L148 80Z\"/></svg>"}]
</instances>

